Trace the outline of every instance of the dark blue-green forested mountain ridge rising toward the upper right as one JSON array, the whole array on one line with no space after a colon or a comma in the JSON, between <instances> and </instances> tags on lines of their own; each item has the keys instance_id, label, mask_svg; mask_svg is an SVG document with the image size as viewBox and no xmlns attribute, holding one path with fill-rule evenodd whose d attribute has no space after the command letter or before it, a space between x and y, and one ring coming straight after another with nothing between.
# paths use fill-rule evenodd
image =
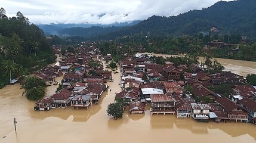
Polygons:
<instances>
[{"instance_id":1,"label":"dark blue-green forested mountain ridge rising toward the upper right","mask_svg":"<svg viewBox=\"0 0 256 143\"><path fill-rule=\"evenodd\" d=\"M193 10L172 17L153 15L134 26L72 28L61 30L61 35L115 39L116 36L131 36L135 33L151 36L180 36L209 32L215 26L221 33L240 33L256 38L256 1L220 1L202 10ZM111 33L110 33L111 32Z\"/></svg>"}]
</instances>

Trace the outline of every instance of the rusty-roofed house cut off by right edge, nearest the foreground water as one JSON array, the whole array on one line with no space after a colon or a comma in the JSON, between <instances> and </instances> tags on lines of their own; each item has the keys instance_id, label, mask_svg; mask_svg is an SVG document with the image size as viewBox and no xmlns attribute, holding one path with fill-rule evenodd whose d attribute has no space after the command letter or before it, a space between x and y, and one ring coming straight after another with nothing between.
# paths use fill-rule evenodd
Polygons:
<instances>
[{"instance_id":1,"label":"rusty-roofed house cut off by right edge, nearest the foreground water","mask_svg":"<svg viewBox=\"0 0 256 143\"><path fill-rule=\"evenodd\" d=\"M240 104L243 110L248 112L251 118L256 117L256 101L245 97L242 100L238 100L238 104Z\"/></svg>"}]
</instances>

